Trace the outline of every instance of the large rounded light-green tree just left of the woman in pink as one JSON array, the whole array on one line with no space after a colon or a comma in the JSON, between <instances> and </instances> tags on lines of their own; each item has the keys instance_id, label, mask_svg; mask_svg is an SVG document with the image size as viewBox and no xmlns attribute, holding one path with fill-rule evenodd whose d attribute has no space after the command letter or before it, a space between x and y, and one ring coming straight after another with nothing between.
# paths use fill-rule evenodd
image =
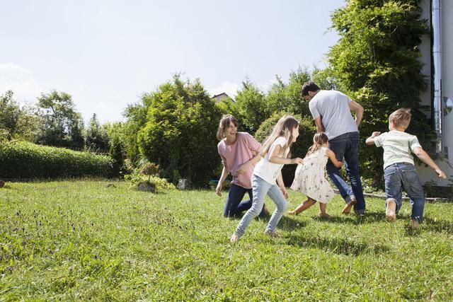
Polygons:
<instances>
[{"instance_id":1,"label":"large rounded light-green tree just left of the woman in pink","mask_svg":"<svg viewBox=\"0 0 453 302\"><path fill-rule=\"evenodd\" d=\"M139 151L161 167L164 178L207 186L219 165L215 134L221 112L200 81L176 75L143 98L149 110L138 134Z\"/></svg>"}]
</instances>

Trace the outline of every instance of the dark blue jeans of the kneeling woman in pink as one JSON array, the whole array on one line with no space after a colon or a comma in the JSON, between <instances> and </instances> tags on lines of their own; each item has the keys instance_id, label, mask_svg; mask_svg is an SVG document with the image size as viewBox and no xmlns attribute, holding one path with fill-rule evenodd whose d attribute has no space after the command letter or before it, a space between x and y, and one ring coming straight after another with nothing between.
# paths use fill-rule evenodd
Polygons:
<instances>
[{"instance_id":1,"label":"dark blue jeans of the kneeling woman in pink","mask_svg":"<svg viewBox=\"0 0 453 302\"><path fill-rule=\"evenodd\" d=\"M242 197L248 193L248 198L247 200L244 200L243 202ZM224 216L225 217L233 217L238 214L241 214L243 211L247 211L252 207L253 203L253 195L252 195L252 190L251 189L246 189L244 187L241 187L239 185L234 185L231 184L231 187L229 187L228 191L228 197L226 197L226 202L224 206ZM265 211L264 211L264 204L263 204L263 209L261 209L260 212L260 217L265 216Z\"/></svg>"}]
</instances>

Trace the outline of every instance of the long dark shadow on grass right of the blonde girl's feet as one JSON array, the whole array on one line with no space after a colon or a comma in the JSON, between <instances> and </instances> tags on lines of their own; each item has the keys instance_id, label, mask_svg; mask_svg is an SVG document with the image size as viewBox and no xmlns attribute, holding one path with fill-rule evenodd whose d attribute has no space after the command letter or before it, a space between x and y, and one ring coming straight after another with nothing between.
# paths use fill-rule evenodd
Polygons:
<instances>
[{"instance_id":1,"label":"long dark shadow on grass right of the blonde girl's feet","mask_svg":"<svg viewBox=\"0 0 453 302\"><path fill-rule=\"evenodd\" d=\"M336 254L355 256L365 253L379 254L390 250L386 245L367 245L366 243L357 243L347 239L306 236L291 236L287 244L304 248L319 248L335 252Z\"/></svg>"}]
</instances>

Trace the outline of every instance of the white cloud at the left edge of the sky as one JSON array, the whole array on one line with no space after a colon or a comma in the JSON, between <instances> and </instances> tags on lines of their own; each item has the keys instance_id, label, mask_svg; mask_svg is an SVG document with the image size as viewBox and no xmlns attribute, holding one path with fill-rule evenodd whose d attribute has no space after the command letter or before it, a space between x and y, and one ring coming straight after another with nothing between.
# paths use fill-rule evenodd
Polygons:
<instances>
[{"instance_id":1,"label":"white cloud at the left edge of the sky","mask_svg":"<svg viewBox=\"0 0 453 302\"><path fill-rule=\"evenodd\" d=\"M19 64L0 64L0 93L11 90L16 100L35 101L42 91L33 73Z\"/></svg>"}]
</instances>

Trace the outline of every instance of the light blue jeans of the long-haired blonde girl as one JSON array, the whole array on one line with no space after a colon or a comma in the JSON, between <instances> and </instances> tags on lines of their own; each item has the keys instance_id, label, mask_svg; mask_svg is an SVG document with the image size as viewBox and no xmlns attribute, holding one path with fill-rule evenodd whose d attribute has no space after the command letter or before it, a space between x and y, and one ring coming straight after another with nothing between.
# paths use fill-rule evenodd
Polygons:
<instances>
[{"instance_id":1,"label":"light blue jeans of the long-haired blonde girl","mask_svg":"<svg viewBox=\"0 0 453 302\"><path fill-rule=\"evenodd\" d=\"M277 205L277 209L273 212L272 216L270 216L270 221L268 226L266 227L266 231L274 232L275 228L277 228L277 223L282 219L283 214L288 208L288 203L283 196L280 187L277 184L271 185L269 182L263 180L263 178L259 178L256 175L252 176L252 190L253 190L253 204L250 209L246 212L246 214L242 217L241 221L239 222L238 227L236 228L237 236L243 236L243 233L246 232L247 226L251 223L251 221L260 214L260 210L263 208L264 199L266 194L269 195L270 199L272 199L275 204Z\"/></svg>"}]
</instances>

